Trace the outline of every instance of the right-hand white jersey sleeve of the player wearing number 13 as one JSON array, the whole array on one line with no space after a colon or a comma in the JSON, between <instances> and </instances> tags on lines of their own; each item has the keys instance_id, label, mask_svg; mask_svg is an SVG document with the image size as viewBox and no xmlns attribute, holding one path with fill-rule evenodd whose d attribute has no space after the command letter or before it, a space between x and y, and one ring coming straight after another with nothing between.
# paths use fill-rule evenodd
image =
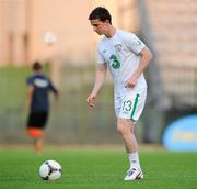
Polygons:
<instances>
[{"instance_id":1,"label":"right-hand white jersey sleeve of the player wearing number 13","mask_svg":"<svg viewBox=\"0 0 197 189\"><path fill-rule=\"evenodd\" d=\"M144 43L135 34L129 33L127 38L127 46L136 54L139 54L144 48Z\"/></svg>"}]
</instances>

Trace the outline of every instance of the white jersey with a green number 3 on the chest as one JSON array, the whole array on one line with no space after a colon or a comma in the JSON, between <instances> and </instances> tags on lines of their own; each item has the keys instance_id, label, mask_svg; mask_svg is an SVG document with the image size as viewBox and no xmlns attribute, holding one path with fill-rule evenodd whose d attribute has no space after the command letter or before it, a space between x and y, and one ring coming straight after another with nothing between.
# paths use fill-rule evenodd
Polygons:
<instances>
[{"instance_id":1,"label":"white jersey with a green number 3 on the chest","mask_svg":"<svg viewBox=\"0 0 197 189\"><path fill-rule=\"evenodd\" d=\"M114 80L115 92L125 87L139 66L139 53L146 45L134 34L116 30L113 37L104 36L97 46L97 64L106 64ZM147 88L143 74L135 89Z\"/></svg>"}]
</instances>

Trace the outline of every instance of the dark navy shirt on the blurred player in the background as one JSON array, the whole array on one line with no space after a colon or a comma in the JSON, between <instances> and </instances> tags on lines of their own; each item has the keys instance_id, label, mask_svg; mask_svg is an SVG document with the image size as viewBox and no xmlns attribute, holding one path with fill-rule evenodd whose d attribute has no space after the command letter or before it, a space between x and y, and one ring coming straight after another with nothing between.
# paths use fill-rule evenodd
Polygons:
<instances>
[{"instance_id":1,"label":"dark navy shirt on the blurred player in the background","mask_svg":"<svg viewBox=\"0 0 197 189\"><path fill-rule=\"evenodd\" d=\"M49 92L58 94L50 79L43 74L35 74L27 78L27 86L34 86L31 111L40 112L49 110Z\"/></svg>"}]
</instances>

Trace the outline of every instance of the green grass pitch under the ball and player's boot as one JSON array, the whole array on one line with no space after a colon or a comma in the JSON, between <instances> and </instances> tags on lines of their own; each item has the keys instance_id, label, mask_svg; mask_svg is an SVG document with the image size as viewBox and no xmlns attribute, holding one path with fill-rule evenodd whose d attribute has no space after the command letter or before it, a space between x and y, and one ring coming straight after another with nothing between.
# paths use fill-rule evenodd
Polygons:
<instances>
[{"instance_id":1,"label":"green grass pitch under the ball and player's boot","mask_svg":"<svg viewBox=\"0 0 197 189\"><path fill-rule=\"evenodd\" d=\"M123 181L128 159L120 149L46 149L35 155L31 149L0 149L1 189L196 189L197 154L143 151L140 153L146 179ZM45 181L39 165L56 159L62 177Z\"/></svg>"}]
</instances>

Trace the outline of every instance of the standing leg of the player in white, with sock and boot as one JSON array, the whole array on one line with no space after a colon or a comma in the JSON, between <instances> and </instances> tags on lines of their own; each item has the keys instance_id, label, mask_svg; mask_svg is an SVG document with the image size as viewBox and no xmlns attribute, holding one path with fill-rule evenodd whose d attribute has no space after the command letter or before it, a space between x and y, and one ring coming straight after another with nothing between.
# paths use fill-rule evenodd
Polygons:
<instances>
[{"instance_id":1,"label":"standing leg of the player in white, with sock and boot","mask_svg":"<svg viewBox=\"0 0 197 189\"><path fill-rule=\"evenodd\" d=\"M125 180L143 178L138 156L138 143L135 136L135 122L128 119L118 119L117 131L125 143L130 162L130 168Z\"/></svg>"}]
</instances>

